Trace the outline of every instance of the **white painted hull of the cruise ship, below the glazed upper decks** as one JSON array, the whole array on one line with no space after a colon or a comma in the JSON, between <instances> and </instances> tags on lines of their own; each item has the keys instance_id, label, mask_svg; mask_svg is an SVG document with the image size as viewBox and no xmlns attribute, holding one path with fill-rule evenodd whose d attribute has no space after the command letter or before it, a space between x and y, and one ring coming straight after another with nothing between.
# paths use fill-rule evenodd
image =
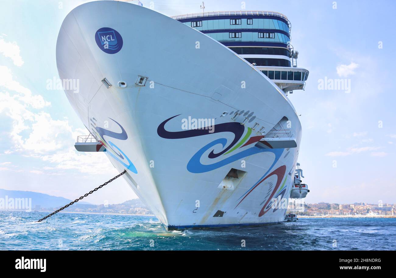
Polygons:
<instances>
[{"instance_id":1,"label":"white painted hull of the cruise ship, below the glazed upper decks","mask_svg":"<svg viewBox=\"0 0 396 278\"><path fill-rule=\"evenodd\" d=\"M99 48L95 34L102 27L120 33L119 52ZM116 1L72 10L59 31L56 58L61 79L79 79L79 93L65 92L84 125L104 141L107 151L97 155L106 154L119 172L127 169L123 177L166 228L284 221L286 209L272 209L270 201L290 195L301 124L285 94L244 59L174 19ZM148 78L146 86L135 84L138 75ZM230 115L237 110L253 112L249 119L255 119L240 125L245 114L235 120ZM189 116L215 119L215 132L166 138L175 136L167 132L185 132L181 121ZM261 135L259 128L249 129L256 122L268 132L284 117L291 121L296 148L247 144ZM238 126L243 133L233 143ZM226 130L216 131L221 128ZM209 154L228 146L230 153ZM236 186L219 187L231 168L247 173Z\"/></svg>"}]
</instances>

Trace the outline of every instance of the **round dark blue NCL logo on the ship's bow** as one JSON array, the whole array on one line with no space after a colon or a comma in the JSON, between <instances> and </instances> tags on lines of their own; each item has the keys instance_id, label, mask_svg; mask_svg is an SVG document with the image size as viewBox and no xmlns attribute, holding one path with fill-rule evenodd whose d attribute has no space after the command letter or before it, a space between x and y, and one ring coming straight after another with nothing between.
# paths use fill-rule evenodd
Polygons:
<instances>
[{"instance_id":1,"label":"round dark blue NCL logo on the ship's bow","mask_svg":"<svg viewBox=\"0 0 396 278\"><path fill-rule=\"evenodd\" d=\"M107 54L115 54L122 48L122 36L109 27L103 27L96 31L95 41L99 48Z\"/></svg>"}]
</instances>

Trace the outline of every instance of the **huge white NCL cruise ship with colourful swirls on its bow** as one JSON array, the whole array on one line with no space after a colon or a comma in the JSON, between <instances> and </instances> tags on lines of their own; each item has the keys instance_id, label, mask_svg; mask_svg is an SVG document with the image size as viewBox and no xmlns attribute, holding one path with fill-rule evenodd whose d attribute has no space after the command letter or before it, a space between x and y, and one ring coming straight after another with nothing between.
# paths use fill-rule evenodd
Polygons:
<instances>
[{"instance_id":1,"label":"huge white NCL cruise ship with colourful swirls on its bow","mask_svg":"<svg viewBox=\"0 0 396 278\"><path fill-rule=\"evenodd\" d=\"M290 30L277 12L74 8L56 59L62 80L79 81L64 88L88 129L76 149L126 171L168 230L284 221L274 200L290 196L302 133L288 94L308 77Z\"/></svg>"}]
</instances>

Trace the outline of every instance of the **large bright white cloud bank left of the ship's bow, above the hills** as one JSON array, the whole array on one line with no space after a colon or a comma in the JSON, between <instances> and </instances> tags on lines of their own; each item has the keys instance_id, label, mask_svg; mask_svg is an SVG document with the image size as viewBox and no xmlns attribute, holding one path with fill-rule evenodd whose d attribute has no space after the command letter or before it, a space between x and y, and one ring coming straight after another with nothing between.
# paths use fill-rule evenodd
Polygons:
<instances>
[{"instance_id":1,"label":"large bright white cloud bank left of the ship's bow, above the hills","mask_svg":"<svg viewBox=\"0 0 396 278\"><path fill-rule=\"evenodd\" d=\"M8 67L0 66L0 86L16 92L11 94L0 91L0 113L12 121L9 136L14 144L4 154L20 153L48 163L41 169L43 171L30 171L34 174L42 174L44 171L59 174L58 171L67 169L101 174L113 169L104 153L78 153L74 149L77 136L88 134L85 128L73 129L67 117L55 120L49 113L33 110L43 108L49 102L40 95L32 96L28 88L13 79ZM7 167L1 168L3 171L11 171Z\"/></svg>"}]
</instances>

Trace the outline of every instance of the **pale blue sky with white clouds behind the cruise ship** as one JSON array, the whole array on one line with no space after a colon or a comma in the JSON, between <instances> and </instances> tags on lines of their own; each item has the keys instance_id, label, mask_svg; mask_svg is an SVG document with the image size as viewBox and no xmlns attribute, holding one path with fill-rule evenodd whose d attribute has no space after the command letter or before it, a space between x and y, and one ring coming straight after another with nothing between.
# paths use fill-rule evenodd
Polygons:
<instances>
[{"instance_id":1,"label":"pale blue sky with white clouds behind the cruise ship","mask_svg":"<svg viewBox=\"0 0 396 278\"><path fill-rule=\"evenodd\" d=\"M84 2L0 0L0 188L75 199L118 174L103 153L74 149L77 136L88 132L65 93L47 86L59 77L61 23ZM141 2L169 16L202 11L200 1ZM396 97L388 84L395 81L396 2L205 1L205 12L231 10L286 15L297 65L310 71L305 90L289 95L303 127L305 201L396 203ZM337 79L350 86L321 86ZM84 201L135 197L118 179Z\"/></svg>"}]
</instances>

